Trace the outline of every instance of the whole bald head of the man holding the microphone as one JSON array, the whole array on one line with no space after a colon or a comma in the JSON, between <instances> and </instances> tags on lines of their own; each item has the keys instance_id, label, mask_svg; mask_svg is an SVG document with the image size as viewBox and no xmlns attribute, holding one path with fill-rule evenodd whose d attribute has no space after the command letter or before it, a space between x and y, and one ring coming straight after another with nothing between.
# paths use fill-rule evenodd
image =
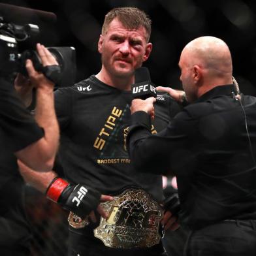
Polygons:
<instances>
[{"instance_id":1,"label":"whole bald head of the man holding the microphone","mask_svg":"<svg viewBox=\"0 0 256 256\"><path fill-rule=\"evenodd\" d=\"M216 86L232 84L231 52L216 37L199 37L189 42L182 51L179 66L189 102Z\"/></svg>"}]
</instances>

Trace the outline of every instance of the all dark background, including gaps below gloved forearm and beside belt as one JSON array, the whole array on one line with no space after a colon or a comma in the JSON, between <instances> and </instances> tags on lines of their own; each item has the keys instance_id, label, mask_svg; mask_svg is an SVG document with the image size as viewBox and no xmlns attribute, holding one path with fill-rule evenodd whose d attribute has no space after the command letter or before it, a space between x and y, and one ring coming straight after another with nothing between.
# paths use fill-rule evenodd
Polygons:
<instances>
[{"instance_id":1,"label":"all dark background, including gaps below gloved forearm and beside belt","mask_svg":"<svg viewBox=\"0 0 256 256\"><path fill-rule=\"evenodd\" d=\"M153 51L145 65L161 86L181 89L178 60L190 40L203 35L219 37L229 45L234 77L243 93L256 95L256 2L246 0L8 0L0 3L54 12L55 24L42 26L46 46L76 48L76 81L97 74L101 56L97 41L104 15L114 7L139 7L152 18ZM1 9L0 9L1 10ZM13 21L19 14L8 13ZM40 18L35 19L40 23ZM33 256L67 253L67 212L44 195L27 187L26 209L33 227ZM167 250L182 255L187 232L167 233Z\"/></svg>"}]
</instances>

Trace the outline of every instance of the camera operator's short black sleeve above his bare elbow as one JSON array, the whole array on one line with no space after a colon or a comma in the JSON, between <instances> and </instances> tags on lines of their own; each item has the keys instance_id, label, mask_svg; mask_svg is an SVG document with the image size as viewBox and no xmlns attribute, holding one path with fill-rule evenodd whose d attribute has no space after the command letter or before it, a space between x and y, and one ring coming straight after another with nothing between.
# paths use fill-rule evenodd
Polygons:
<instances>
[{"instance_id":1,"label":"camera operator's short black sleeve above his bare elbow","mask_svg":"<svg viewBox=\"0 0 256 256\"><path fill-rule=\"evenodd\" d=\"M12 152L36 142L44 131L20 101L14 86L0 78L0 125Z\"/></svg>"}]
</instances>

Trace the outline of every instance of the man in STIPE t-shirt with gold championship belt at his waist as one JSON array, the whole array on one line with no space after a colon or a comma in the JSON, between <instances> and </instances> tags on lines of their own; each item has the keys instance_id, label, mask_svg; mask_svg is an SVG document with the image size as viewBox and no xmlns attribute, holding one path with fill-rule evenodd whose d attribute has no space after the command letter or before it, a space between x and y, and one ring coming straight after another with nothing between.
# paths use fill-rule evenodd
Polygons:
<instances>
[{"instance_id":1,"label":"man in STIPE t-shirt with gold championship belt at his waist","mask_svg":"<svg viewBox=\"0 0 256 256\"><path fill-rule=\"evenodd\" d=\"M174 223L176 217L169 211L163 212L160 206L163 202L162 176L136 172L125 146L131 84L135 82L135 69L152 51L150 33L151 21L138 8L111 10L106 14L98 43L101 71L71 88L57 89L55 93L61 127L59 159L65 178L72 184L83 183L85 187L114 197L103 203L108 219L101 218L100 223L93 212L87 216L80 212L76 214L79 217L71 212L70 256L165 255L161 224L172 229L178 226ZM151 132L164 129L178 111L178 104L168 95L157 95ZM40 187L41 191L46 190L47 182L40 184L39 176L35 179L33 171L23 167L22 174L27 182ZM65 183L60 178L57 180L60 186ZM53 191L56 187L53 182L46 191L55 201ZM86 195L83 197L80 192L73 199L78 207L80 201L86 200Z\"/></svg>"}]
</instances>

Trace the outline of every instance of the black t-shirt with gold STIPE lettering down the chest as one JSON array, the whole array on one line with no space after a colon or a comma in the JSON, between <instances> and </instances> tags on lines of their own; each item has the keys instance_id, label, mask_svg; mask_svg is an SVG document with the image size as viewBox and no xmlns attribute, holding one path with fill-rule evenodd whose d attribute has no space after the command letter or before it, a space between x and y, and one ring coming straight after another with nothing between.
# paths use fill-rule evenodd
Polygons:
<instances>
[{"instance_id":1,"label":"black t-shirt with gold STIPE lettering down the chest","mask_svg":"<svg viewBox=\"0 0 256 256\"><path fill-rule=\"evenodd\" d=\"M106 195L119 194L128 187L142 187L161 201L161 176L133 170L125 148L131 92L91 76L55 93L61 127L59 157L67 180L90 185ZM158 95L152 133L165 128L179 110L168 95Z\"/></svg>"}]
</instances>

